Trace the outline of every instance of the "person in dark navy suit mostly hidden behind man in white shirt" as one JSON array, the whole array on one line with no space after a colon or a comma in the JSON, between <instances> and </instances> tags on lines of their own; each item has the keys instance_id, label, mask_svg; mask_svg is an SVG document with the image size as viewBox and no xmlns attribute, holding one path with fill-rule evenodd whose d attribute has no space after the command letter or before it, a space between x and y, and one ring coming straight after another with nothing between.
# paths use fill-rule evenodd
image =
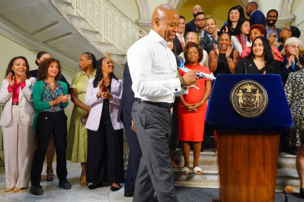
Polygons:
<instances>
[{"instance_id":1,"label":"person in dark navy suit mostly hidden behind man in white shirt","mask_svg":"<svg viewBox=\"0 0 304 202\"><path fill-rule=\"evenodd\" d=\"M137 135L135 133L134 123L131 117L132 105L134 102L134 92L132 91L132 79L130 76L128 62L124 68L123 95L118 111L118 121L123 122L127 142L129 145L129 161L127 168L127 178L125 183L125 197L132 197L134 193L135 180L138 172L141 158L141 150Z\"/></svg>"}]
</instances>

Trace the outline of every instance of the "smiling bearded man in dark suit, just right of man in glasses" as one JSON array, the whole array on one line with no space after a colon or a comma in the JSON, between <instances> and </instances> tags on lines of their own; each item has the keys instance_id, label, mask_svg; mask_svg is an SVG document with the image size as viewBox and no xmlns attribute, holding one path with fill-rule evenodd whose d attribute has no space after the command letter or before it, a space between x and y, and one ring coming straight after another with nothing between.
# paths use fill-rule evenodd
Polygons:
<instances>
[{"instance_id":1,"label":"smiling bearded man in dark suit, just right of man in glasses","mask_svg":"<svg viewBox=\"0 0 304 202\"><path fill-rule=\"evenodd\" d=\"M218 45L219 32L214 18L206 19L205 32L207 34L200 38L200 46L209 54L213 50L213 45Z\"/></svg>"}]
</instances>

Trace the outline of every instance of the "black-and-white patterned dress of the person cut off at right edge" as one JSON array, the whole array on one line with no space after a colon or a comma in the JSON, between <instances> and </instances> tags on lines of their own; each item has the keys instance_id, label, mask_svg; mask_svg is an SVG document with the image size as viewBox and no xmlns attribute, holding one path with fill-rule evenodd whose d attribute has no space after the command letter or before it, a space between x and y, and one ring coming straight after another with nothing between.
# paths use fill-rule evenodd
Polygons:
<instances>
[{"instance_id":1,"label":"black-and-white patterned dress of the person cut off at right edge","mask_svg":"<svg viewBox=\"0 0 304 202\"><path fill-rule=\"evenodd\" d=\"M289 132L291 146L304 145L304 70L291 72L288 76L285 93L293 119Z\"/></svg>"}]
</instances>

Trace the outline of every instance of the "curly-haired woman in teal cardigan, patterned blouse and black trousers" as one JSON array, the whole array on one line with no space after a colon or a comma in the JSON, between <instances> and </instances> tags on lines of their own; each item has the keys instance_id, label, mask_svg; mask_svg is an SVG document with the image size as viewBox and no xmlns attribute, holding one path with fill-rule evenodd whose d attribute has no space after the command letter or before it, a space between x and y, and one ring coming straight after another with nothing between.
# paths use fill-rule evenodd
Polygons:
<instances>
[{"instance_id":1,"label":"curly-haired woman in teal cardigan, patterned blouse and black trousers","mask_svg":"<svg viewBox=\"0 0 304 202\"><path fill-rule=\"evenodd\" d=\"M53 58L46 59L38 69L37 79L39 82L33 88L33 105L36 109L33 129L36 130L37 149L34 153L31 169L30 192L34 195L43 194L40 185L41 173L51 135L55 141L59 187L71 188L70 183L66 180L67 117L64 114L69 94L67 94L67 85L58 79L60 76L60 62Z\"/></svg>"}]
</instances>

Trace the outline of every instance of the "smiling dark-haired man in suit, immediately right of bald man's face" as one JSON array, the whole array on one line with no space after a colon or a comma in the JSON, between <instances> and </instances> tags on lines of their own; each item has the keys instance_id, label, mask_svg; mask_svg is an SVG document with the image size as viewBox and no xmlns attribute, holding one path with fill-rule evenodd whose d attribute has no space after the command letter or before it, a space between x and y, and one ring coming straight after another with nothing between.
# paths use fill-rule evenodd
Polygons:
<instances>
[{"instance_id":1,"label":"smiling dark-haired man in suit, immediately right of bald man's face","mask_svg":"<svg viewBox=\"0 0 304 202\"><path fill-rule=\"evenodd\" d=\"M176 36L174 38L174 47L176 55L179 55L181 52L183 52L185 48L185 38L184 38L184 31L185 31L185 18L183 16L179 16L179 21L177 24L177 32Z\"/></svg>"}]
</instances>

